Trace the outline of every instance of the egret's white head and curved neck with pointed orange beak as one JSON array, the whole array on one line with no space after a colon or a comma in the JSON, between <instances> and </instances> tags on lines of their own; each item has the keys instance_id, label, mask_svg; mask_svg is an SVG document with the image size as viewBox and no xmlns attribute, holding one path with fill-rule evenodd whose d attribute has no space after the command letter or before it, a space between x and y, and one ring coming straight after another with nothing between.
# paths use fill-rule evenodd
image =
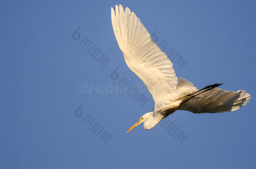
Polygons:
<instances>
[{"instance_id":1,"label":"egret's white head and curved neck with pointed orange beak","mask_svg":"<svg viewBox=\"0 0 256 169\"><path fill-rule=\"evenodd\" d=\"M152 129L152 127L154 127L156 124L152 125L152 120L153 120L153 111L149 112L149 113L146 113L144 114L141 119L139 119L137 121L136 124L134 124L133 126L131 126L131 128L126 131L126 133L128 133L129 131L131 131L132 129L134 129L135 127L137 127L138 125L144 123L144 129L145 130L149 130L149 129Z\"/></svg>"}]
</instances>

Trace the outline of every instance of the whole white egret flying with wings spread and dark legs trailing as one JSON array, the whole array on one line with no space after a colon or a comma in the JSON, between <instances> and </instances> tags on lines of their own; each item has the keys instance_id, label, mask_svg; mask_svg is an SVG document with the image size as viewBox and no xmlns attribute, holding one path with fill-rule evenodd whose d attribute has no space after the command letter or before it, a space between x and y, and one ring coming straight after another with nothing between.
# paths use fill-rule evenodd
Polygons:
<instances>
[{"instance_id":1,"label":"whole white egret flying with wings spread and dark legs trailing","mask_svg":"<svg viewBox=\"0 0 256 169\"><path fill-rule=\"evenodd\" d=\"M235 111L251 98L244 90L216 88L222 84L198 90L190 81L178 79L170 59L129 8L124 11L122 5L115 5L115 11L111 8L111 20L127 66L144 82L155 102L154 111L144 114L127 132L142 123L145 130L152 129L176 110L196 114Z\"/></svg>"}]
</instances>

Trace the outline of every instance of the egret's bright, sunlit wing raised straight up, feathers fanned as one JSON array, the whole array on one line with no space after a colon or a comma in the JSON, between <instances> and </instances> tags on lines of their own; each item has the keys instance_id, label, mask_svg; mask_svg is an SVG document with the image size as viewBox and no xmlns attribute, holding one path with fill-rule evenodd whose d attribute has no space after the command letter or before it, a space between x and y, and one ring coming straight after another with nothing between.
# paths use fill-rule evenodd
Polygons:
<instances>
[{"instance_id":1,"label":"egret's bright, sunlit wing raised straight up, feathers fanned","mask_svg":"<svg viewBox=\"0 0 256 169\"><path fill-rule=\"evenodd\" d=\"M154 43L150 34L129 8L111 8L111 20L127 66L146 85L155 102L175 90L177 77L172 62Z\"/></svg>"}]
</instances>

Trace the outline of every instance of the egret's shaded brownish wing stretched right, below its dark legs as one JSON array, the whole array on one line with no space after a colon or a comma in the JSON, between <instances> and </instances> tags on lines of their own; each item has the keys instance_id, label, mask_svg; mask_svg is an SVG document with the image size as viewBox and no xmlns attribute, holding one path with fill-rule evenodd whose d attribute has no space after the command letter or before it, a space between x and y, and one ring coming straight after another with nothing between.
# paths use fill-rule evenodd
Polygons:
<instances>
[{"instance_id":1,"label":"egret's shaded brownish wing stretched right, below its dark legs","mask_svg":"<svg viewBox=\"0 0 256 169\"><path fill-rule=\"evenodd\" d=\"M188 100L178 110L191 111L193 113L219 113L235 111L246 105L251 97L249 93L239 90L226 91L213 88Z\"/></svg>"}]
</instances>

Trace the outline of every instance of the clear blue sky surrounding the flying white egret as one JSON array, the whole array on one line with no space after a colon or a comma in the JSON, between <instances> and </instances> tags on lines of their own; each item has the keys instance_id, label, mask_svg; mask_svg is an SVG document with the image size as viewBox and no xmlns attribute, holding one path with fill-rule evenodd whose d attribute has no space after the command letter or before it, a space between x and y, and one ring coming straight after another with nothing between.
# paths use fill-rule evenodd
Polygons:
<instances>
[{"instance_id":1,"label":"clear blue sky surrounding the flying white egret","mask_svg":"<svg viewBox=\"0 0 256 169\"><path fill-rule=\"evenodd\" d=\"M78 86L140 79L125 64L110 8L128 6L149 33L183 56L178 77L202 88L251 93L235 112L168 118L188 136L183 144L165 127L125 133L154 106L128 94L79 93ZM0 168L2 169L254 169L255 1L7 1L0 2ZM80 40L72 33L80 28ZM110 58L102 67L79 45L88 37ZM118 69L119 79L110 73ZM83 116L74 111L80 105ZM104 144L82 120L90 114L112 139ZM169 123L170 123L169 122ZM102 132L103 132L102 131Z\"/></svg>"}]
</instances>

